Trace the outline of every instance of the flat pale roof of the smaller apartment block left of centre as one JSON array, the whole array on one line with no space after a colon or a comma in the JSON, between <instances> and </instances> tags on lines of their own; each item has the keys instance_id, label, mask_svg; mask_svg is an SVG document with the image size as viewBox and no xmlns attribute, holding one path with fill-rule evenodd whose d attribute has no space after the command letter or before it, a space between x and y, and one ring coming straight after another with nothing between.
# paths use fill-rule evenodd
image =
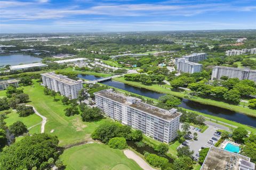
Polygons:
<instances>
[{"instance_id":1,"label":"flat pale roof of the smaller apartment block left of centre","mask_svg":"<svg viewBox=\"0 0 256 170\"><path fill-rule=\"evenodd\" d=\"M66 75L55 74L54 72L42 73L41 75L43 75L45 77L52 78L52 79L60 81L60 82L63 82L63 83L68 84L70 86L82 83L81 80L78 80L78 81L72 80L72 79L69 79Z\"/></svg>"}]
</instances>

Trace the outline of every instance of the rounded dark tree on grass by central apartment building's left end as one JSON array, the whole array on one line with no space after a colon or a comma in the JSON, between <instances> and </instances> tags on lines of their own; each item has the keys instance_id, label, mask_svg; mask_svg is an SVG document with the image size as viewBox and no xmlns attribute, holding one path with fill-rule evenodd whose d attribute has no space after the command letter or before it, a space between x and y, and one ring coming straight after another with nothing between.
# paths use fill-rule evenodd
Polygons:
<instances>
[{"instance_id":1,"label":"rounded dark tree on grass by central apartment building's left end","mask_svg":"<svg viewBox=\"0 0 256 170\"><path fill-rule=\"evenodd\" d=\"M103 118L103 113L98 107L90 108L90 107L85 106L83 109L84 110L83 110L81 116L82 116L82 120L84 122L96 121L96 120L100 120L101 118Z\"/></svg>"}]
</instances>

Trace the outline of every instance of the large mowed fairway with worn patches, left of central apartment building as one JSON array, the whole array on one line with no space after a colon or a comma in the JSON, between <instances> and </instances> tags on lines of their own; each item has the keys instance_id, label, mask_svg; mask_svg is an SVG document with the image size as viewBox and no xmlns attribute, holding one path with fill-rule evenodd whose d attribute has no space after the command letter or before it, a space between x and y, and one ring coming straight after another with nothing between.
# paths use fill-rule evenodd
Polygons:
<instances>
[{"instance_id":1,"label":"large mowed fairway with worn patches, left of central apartment building","mask_svg":"<svg viewBox=\"0 0 256 170\"><path fill-rule=\"evenodd\" d=\"M29 105L33 105L37 111L47 117L45 132L57 135L60 146L90 140L90 134L94 129L107 121L103 119L98 122L82 122L81 115L67 117L63 111L65 106L59 101L53 101L53 97L44 95L44 87L34 80L34 86L23 87L25 94L29 95ZM61 96L57 96L61 99Z\"/></svg>"}]
</instances>

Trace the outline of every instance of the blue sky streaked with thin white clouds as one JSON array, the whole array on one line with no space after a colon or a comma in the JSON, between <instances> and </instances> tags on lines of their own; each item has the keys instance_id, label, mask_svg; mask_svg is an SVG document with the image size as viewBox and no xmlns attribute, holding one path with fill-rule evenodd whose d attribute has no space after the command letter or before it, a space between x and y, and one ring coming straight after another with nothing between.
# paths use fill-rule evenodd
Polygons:
<instances>
[{"instance_id":1,"label":"blue sky streaked with thin white clouds","mask_svg":"<svg viewBox=\"0 0 256 170\"><path fill-rule=\"evenodd\" d=\"M256 29L256 0L0 0L0 33Z\"/></svg>"}]
</instances>

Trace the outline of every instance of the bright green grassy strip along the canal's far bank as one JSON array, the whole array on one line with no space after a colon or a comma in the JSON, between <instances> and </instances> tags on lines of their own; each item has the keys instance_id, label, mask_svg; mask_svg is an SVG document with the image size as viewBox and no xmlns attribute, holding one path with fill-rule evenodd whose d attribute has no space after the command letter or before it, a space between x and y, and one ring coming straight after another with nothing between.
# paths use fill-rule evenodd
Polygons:
<instances>
[{"instance_id":1,"label":"bright green grassy strip along the canal's far bank","mask_svg":"<svg viewBox=\"0 0 256 170\"><path fill-rule=\"evenodd\" d=\"M177 96L177 97L180 97L180 98L185 98L185 96L186 96L186 94L184 94L182 92L172 91L170 89L158 86L158 84L152 84L150 86L147 86L147 85L141 84L140 82L126 81L126 80L124 80L123 77L115 78L114 80L123 82L125 84L130 84L131 86L141 87L141 88L145 88L145 89L148 89L148 90L160 92L160 93L163 93L163 94L170 94L170 95ZM204 98L197 97L197 96L193 96L192 98L189 98L189 99L193 100L193 101L197 101L198 103L217 106L217 107L221 107L221 108L226 108L226 109L229 109L231 111L235 111L235 112L239 112L239 113L243 113L243 114L246 114L246 115L256 117L256 110L253 110L253 109L250 109L250 108L246 108L246 107L242 107L242 106L236 106L236 105L230 105L230 104L227 104L223 101L204 99Z\"/></svg>"}]
</instances>

